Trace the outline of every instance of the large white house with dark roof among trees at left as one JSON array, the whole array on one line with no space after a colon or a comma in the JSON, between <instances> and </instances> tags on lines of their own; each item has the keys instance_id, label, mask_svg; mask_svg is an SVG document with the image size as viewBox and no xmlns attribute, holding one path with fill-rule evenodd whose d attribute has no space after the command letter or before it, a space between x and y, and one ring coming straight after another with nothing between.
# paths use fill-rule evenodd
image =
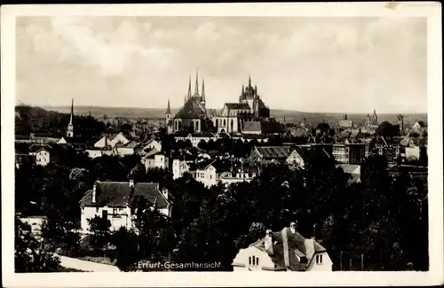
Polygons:
<instances>
[{"instance_id":1,"label":"large white house with dark roof among trees at left","mask_svg":"<svg viewBox=\"0 0 444 288\"><path fill-rule=\"evenodd\" d=\"M83 233L89 232L88 219L96 215L107 218L111 222L111 230L119 230L121 227L131 229L131 201L137 196L147 198L148 203L160 213L171 216L171 199L174 197L166 189L161 191L159 183L98 181L80 200Z\"/></svg>"}]
</instances>

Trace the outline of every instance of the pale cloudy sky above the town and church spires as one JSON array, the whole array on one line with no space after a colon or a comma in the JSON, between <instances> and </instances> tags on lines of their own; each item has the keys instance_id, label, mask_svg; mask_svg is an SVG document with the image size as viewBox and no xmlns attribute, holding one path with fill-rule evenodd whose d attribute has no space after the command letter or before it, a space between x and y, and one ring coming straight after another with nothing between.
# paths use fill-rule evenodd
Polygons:
<instances>
[{"instance_id":1,"label":"pale cloudy sky above the town and church spires","mask_svg":"<svg viewBox=\"0 0 444 288\"><path fill-rule=\"evenodd\" d=\"M178 108L198 68L212 108L424 113L426 55L425 18L19 17L16 103Z\"/></svg>"}]
</instances>

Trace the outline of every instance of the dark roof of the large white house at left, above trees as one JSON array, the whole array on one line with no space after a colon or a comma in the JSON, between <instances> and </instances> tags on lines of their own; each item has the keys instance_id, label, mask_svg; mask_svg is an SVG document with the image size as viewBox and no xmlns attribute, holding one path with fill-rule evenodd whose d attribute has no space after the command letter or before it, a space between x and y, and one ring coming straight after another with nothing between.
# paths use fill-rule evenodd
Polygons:
<instances>
[{"instance_id":1,"label":"dark roof of the large white house at left, above trees","mask_svg":"<svg viewBox=\"0 0 444 288\"><path fill-rule=\"evenodd\" d=\"M80 206L130 206L136 196L147 198L150 204L160 208L167 208L170 200L163 197L158 183L134 183L134 187L128 182L97 182L96 202L92 203L92 190L87 191L80 201Z\"/></svg>"}]
</instances>

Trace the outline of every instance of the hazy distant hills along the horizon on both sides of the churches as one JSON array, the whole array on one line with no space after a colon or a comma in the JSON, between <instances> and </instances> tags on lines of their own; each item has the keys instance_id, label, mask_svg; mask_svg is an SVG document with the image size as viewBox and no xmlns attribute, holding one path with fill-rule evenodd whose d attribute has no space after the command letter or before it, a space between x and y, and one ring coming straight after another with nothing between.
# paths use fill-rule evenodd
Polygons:
<instances>
[{"instance_id":1,"label":"hazy distant hills along the horizon on both sides of the churches","mask_svg":"<svg viewBox=\"0 0 444 288\"><path fill-rule=\"evenodd\" d=\"M59 113L69 113L70 106L52 106L43 107L47 110L58 111ZM99 107L99 106L75 106L74 113L76 115L88 115L94 118L101 119L103 115L107 114L108 117L125 117L125 118L151 118L151 119L163 119L165 117L165 108L119 108L119 107ZM178 112L178 109L171 109L171 113L174 115ZM307 113L299 111L271 109L271 116L278 121L288 123L300 123L306 118L307 123L315 123L326 121L329 123L337 123L337 121L343 118L343 113ZM352 121L364 121L367 114L365 113L352 113L348 114L348 119ZM378 114L378 120L396 122L396 113L390 114ZM425 113L411 113L404 114L404 121L427 121L427 114Z\"/></svg>"}]
</instances>

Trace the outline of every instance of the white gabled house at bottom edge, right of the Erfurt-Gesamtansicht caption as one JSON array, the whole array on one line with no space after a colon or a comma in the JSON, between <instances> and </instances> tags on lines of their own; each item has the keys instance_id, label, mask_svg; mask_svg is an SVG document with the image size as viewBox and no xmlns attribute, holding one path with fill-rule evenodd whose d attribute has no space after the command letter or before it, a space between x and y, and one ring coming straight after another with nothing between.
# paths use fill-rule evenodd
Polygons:
<instances>
[{"instance_id":1,"label":"white gabled house at bottom edge, right of the Erfurt-Gesamtansicht caption","mask_svg":"<svg viewBox=\"0 0 444 288\"><path fill-rule=\"evenodd\" d=\"M241 249L232 263L237 271L332 271L333 262L322 245L297 232L292 222L279 232L266 230L266 236Z\"/></svg>"}]
</instances>

